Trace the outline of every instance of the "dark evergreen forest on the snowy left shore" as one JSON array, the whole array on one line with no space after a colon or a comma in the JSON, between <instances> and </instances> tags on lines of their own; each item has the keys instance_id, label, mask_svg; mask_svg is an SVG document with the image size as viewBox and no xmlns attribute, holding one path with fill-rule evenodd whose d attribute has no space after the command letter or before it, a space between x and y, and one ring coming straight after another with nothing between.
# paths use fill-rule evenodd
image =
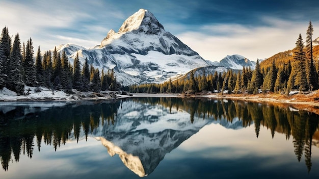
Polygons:
<instances>
[{"instance_id":1,"label":"dark evergreen forest on the snowy left shore","mask_svg":"<svg viewBox=\"0 0 319 179\"><path fill-rule=\"evenodd\" d=\"M58 52L57 48L41 55L38 46L34 61L32 39L21 47L19 34L15 35L11 43L8 28L2 30L0 39L0 89L4 87L24 94L24 86L45 86L52 90L64 90L71 93L71 89L78 91L118 90L121 88L113 70L100 72L85 60L83 68L78 55L74 63L70 64L65 52ZM40 92L40 88L36 88Z\"/></svg>"}]
</instances>

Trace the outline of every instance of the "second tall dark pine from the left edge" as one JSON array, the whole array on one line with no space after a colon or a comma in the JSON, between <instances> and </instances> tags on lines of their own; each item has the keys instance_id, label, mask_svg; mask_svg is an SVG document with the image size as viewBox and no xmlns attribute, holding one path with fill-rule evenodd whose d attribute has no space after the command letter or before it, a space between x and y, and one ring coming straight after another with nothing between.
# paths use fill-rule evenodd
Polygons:
<instances>
[{"instance_id":1,"label":"second tall dark pine from the left edge","mask_svg":"<svg viewBox=\"0 0 319 179\"><path fill-rule=\"evenodd\" d=\"M22 55L19 34L15 35L14 42L10 53L9 72L8 72L8 89L23 94L24 83L22 81Z\"/></svg>"}]
</instances>

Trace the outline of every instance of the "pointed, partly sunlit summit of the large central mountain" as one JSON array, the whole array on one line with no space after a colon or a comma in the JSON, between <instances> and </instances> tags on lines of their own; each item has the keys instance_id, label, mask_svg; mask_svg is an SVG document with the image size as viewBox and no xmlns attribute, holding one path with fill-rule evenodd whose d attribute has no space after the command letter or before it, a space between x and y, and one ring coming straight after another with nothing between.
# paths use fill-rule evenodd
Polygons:
<instances>
[{"instance_id":1,"label":"pointed, partly sunlit summit of the large central mountain","mask_svg":"<svg viewBox=\"0 0 319 179\"><path fill-rule=\"evenodd\" d=\"M133 33L158 34L161 30L164 30L164 27L155 16L148 10L140 9L124 21L119 33L132 31Z\"/></svg>"}]
</instances>

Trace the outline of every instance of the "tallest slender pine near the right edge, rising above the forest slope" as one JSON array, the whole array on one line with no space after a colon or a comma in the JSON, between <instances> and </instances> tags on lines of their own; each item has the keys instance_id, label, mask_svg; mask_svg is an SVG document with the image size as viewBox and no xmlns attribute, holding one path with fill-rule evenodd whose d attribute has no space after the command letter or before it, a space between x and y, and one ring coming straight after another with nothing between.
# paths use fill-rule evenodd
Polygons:
<instances>
[{"instance_id":1,"label":"tallest slender pine near the right edge, rising above the forest slope","mask_svg":"<svg viewBox=\"0 0 319 179\"><path fill-rule=\"evenodd\" d=\"M313 48L312 48L312 34L313 34L313 27L311 21L309 21L309 26L307 29L307 37L306 37L306 46L305 46L305 53L307 62L310 61L309 67L307 68L307 80L311 86L311 89L318 89L318 74L316 72L316 68L313 63ZM308 64L308 63L307 63Z\"/></svg>"}]
</instances>

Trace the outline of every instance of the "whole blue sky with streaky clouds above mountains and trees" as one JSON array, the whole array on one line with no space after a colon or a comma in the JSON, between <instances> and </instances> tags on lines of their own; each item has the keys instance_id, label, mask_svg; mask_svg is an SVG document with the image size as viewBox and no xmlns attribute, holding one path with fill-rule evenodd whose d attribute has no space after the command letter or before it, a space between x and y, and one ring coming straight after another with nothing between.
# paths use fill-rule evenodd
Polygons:
<instances>
[{"instance_id":1,"label":"whole blue sky with streaky clouds above mountains and trees","mask_svg":"<svg viewBox=\"0 0 319 179\"><path fill-rule=\"evenodd\" d=\"M309 19L319 37L319 1L309 0L1 0L0 28L19 33L21 42L31 37L35 51L65 43L89 48L141 8L212 61L233 54L256 61L292 49L299 33L305 40Z\"/></svg>"}]
</instances>

